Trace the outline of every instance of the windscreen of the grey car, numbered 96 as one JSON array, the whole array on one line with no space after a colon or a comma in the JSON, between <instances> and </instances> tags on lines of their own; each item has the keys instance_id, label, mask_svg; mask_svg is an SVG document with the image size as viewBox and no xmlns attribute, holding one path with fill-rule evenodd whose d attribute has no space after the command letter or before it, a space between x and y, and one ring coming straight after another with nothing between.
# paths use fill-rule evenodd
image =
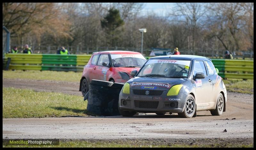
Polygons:
<instances>
[{"instance_id":1,"label":"windscreen of the grey car, numbered 96","mask_svg":"<svg viewBox=\"0 0 256 150\"><path fill-rule=\"evenodd\" d=\"M188 77L190 62L182 60L148 60L137 76Z\"/></svg>"}]
</instances>

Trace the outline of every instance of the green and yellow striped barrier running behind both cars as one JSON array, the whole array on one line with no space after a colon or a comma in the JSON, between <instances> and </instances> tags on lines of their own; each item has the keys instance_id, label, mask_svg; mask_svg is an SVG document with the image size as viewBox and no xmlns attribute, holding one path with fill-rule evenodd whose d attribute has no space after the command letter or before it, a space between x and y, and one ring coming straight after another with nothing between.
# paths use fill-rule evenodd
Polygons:
<instances>
[{"instance_id":1,"label":"green and yellow striped barrier running behind both cars","mask_svg":"<svg viewBox=\"0 0 256 150\"><path fill-rule=\"evenodd\" d=\"M91 55L5 54L3 66L7 58L9 69L83 71ZM222 78L253 79L253 60L212 59L212 63Z\"/></svg>"}]
</instances>

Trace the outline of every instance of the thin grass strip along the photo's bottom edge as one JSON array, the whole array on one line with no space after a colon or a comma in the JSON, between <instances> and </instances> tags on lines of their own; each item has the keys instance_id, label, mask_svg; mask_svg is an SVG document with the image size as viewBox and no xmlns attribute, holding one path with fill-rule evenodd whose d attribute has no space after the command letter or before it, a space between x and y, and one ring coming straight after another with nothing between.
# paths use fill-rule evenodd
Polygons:
<instances>
[{"instance_id":1,"label":"thin grass strip along the photo's bottom edge","mask_svg":"<svg viewBox=\"0 0 256 150\"><path fill-rule=\"evenodd\" d=\"M214 144L160 144L160 143L152 143L150 141L145 142L133 142L128 140L124 143L120 142L106 142L106 141L68 141L68 142L61 142L60 145L57 146L3 146L3 147L253 147L253 144L239 144L239 143L227 143L227 142L220 142Z\"/></svg>"}]
</instances>

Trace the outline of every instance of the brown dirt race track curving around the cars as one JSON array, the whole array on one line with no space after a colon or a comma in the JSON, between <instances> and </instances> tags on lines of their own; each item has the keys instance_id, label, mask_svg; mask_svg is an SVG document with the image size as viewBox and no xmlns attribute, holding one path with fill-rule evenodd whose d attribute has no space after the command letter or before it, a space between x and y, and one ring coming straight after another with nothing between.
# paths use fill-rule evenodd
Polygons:
<instances>
[{"instance_id":1,"label":"brown dirt race track curving around the cars","mask_svg":"<svg viewBox=\"0 0 256 150\"><path fill-rule=\"evenodd\" d=\"M78 91L79 82L3 79L3 87L81 96ZM227 132L222 132L225 129ZM221 116L212 116L209 111L199 111L196 118L178 118L177 114L140 114L132 118L113 116L3 119L4 138L249 138L253 141L253 95L228 92L226 112Z\"/></svg>"}]
</instances>

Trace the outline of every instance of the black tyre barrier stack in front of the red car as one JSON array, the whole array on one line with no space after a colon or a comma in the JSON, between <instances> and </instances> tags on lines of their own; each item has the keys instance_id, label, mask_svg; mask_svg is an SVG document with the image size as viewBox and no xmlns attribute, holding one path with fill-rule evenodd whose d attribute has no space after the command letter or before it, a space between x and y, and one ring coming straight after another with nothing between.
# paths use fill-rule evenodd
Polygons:
<instances>
[{"instance_id":1,"label":"black tyre barrier stack in front of the red car","mask_svg":"<svg viewBox=\"0 0 256 150\"><path fill-rule=\"evenodd\" d=\"M95 115L119 116L118 100L123 83L92 80L84 100L88 100L87 111Z\"/></svg>"}]
</instances>

